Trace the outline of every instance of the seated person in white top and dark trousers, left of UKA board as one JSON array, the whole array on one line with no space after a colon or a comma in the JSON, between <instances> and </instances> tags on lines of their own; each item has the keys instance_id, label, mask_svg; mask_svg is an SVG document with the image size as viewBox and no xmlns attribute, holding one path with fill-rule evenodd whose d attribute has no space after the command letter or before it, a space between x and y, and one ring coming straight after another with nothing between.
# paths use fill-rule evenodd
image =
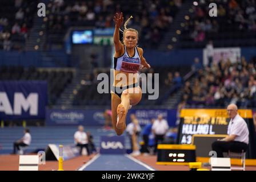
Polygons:
<instances>
[{"instance_id":1,"label":"seated person in white top and dark trousers, left of UKA board","mask_svg":"<svg viewBox=\"0 0 256 182\"><path fill-rule=\"evenodd\" d=\"M78 131L74 134L74 142L77 144L77 147L80 147L80 155L82 155L83 148L86 148L87 155L90 155L88 148L88 137L85 131L83 131L83 126L78 126Z\"/></svg>"}]
</instances>

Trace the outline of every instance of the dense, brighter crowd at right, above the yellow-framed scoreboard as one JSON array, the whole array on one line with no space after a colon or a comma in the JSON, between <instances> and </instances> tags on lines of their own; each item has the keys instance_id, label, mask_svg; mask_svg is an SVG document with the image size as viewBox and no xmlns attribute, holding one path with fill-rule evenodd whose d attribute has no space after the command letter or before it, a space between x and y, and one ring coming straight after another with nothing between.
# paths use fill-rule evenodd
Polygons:
<instances>
[{"instance_id":1,"label":"dense, brighter crowd at right, above the yellow-framed scoreboard","mask_svg":"<svg viewBox=\"0 0 256 182\"><path fill-rule=\"evenodd\" d=\"M256 59L245 57L231 63L230 59L203 67L195 58L193 81L186 81L182 101L187 106L219 106L231 103L238 107L256 106ZM199 65L199 66L198 66ZM199 68L199 69L195 69Z\"/></svg>"}]
</instances>

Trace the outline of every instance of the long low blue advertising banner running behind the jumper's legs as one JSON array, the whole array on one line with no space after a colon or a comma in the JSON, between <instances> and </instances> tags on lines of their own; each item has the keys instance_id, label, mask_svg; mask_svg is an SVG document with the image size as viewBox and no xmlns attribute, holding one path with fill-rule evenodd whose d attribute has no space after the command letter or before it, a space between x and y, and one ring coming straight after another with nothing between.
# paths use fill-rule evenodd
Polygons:
<instances>
[{"instance_id":1,"label":"long low blue advertising banner running behind the jumper's legs","mask_svg":"<svg viewBox=\"0 0 256 182\"><path fill-rule=\"evenodd\" d=\"M47 126L103 126L105 124L104 109L46 109ZM130 114L135 114L141 126L150 123L151 118L162 114L170 127L175 126L176 109L131 109L128 111L126 122L130 122Z\"/></svg>"}]
</instances>

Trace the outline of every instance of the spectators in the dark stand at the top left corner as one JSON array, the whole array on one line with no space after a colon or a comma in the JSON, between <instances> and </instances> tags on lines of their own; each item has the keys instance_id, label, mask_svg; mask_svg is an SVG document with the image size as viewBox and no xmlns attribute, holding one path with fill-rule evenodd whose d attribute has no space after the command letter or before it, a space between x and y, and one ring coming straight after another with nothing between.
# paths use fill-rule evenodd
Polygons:
<instances>
[{"instance_id":1,"label":"spectators in the dark stand at the top left corner","mask_svg":"<svg viewBox=\"0 0 256 182\"><path fill-rule=\"evenodd\" d=\"M25 47L29 30L33 27L37 1L15 0L14 7L10 8L0 13L0 48L5 51Z\"/></svg>"}]
</instances>

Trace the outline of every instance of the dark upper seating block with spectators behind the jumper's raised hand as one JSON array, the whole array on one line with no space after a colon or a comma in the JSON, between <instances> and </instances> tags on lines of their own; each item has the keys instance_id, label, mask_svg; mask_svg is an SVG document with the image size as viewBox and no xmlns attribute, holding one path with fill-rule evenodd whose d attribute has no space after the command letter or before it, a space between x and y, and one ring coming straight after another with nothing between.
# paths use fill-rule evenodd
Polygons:
<instances>
[{"instance_id":1,"label":"dark upper seating block with spectators behind the jumper's raised hand","mask_svg":"<svg viewBox=\"0 0 256 182\"><path fill-rule=\"evenodd\" d=\"M138 6L134 6L134 2ZM143 47L157 47L159 40L172 23L178 13L182 1L63 1L63 3L49 2L51 11L47 15L47 42L63 46L63 36L67 29L74 27L114 27L113 16L122 10L125 19L130 15L134 19L129 27L139 31L140 45ZM93 10L93 11L91 11Z\"/></svg>"}]
</instances>

